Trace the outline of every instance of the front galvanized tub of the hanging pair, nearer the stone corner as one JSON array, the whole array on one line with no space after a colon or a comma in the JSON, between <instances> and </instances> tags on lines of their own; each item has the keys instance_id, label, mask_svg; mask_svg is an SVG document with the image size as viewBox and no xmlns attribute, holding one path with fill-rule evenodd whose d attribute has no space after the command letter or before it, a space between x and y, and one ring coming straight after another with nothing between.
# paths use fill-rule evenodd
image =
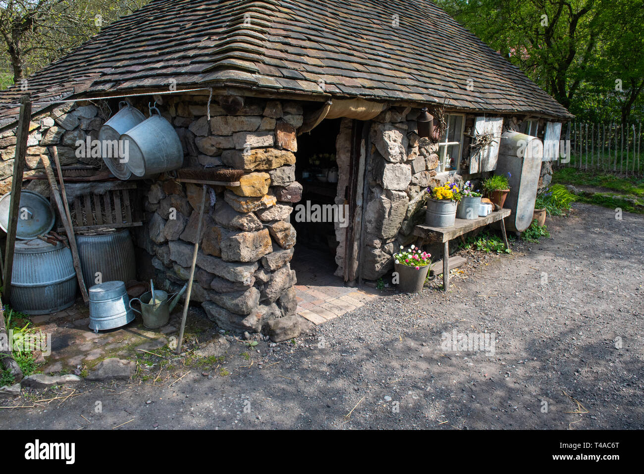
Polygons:
<instances>
[{"instance_id":1,"label":"front galvanized tub of the hanging pair, nearer the stone corner","mask_svg":"<svg viewBox=\"0 0 644 474\"><path fill-rule=\"evenodd\" d=\"M156 111L157 115L153 114ZM126 165L133 175L150 178L184 164L184 148L170 122L150 107L150 118L120 136L128 142Z\"/></svg>"}]
</instances>

